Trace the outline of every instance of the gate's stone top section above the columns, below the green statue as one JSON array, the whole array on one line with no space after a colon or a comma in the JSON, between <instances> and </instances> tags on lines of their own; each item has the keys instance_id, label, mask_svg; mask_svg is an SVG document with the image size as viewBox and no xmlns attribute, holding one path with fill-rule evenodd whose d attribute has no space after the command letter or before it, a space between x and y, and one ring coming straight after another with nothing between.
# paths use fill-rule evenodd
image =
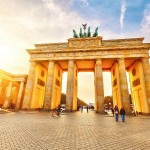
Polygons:
<instances>
[{"instance_id":1,"label":"gate's stone top section above the columns, below the green statue","mask_svg":"<svg viewBox=\"0 0 150 150\"><path fill-rule=\"evenodd\" d=\"M31 61L148 57L150 43L142 43L143 39L71 38L68 43L35 44L36 49L27 51Z\"/></svg>"}]
</instances>

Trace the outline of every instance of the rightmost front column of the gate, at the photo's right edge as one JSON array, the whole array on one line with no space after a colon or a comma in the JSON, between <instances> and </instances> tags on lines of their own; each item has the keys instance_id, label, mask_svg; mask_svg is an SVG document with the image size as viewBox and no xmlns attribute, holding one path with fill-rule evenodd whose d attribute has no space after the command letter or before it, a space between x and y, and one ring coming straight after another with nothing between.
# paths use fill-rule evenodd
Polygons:
<instances>
[{"instance_id":1,"label":"rightmost front column of the gate, at the photo's right edge","mask_svg":"<svg viewBox=\"0 0 150 150\"><path fill-rule=\"evenodd\" d=\"M146 96L147 96L147 101L148 101L149 109L150 109L150 65L149 65L149 59L142 58L141 60L142 60L142 64L143 64L143 75L144 75L144 81L145 81Z\"/></svg>"}]
</instances>

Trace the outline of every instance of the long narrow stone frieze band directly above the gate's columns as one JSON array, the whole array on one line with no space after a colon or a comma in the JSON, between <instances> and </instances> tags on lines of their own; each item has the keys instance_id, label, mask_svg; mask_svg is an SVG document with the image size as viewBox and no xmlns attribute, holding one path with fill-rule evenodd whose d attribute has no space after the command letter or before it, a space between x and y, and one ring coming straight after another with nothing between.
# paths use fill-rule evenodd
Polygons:
<instances>
[{"instance_id":1,"label":"long narrow stone frieze band directly above the gate's columns","mask_svg":"<svg viewBox=\"0 0 150 150\"><path fill-rule=\"evenodd\" d=\"M85 57L90 58L91 56L101 58L120 58L120 57L145 57L147 56L146 51L142 50L97 50L97 51L79 51L79 52L59 52L59 53L45 53L45 54L32 54L31 60L46 60L46 59L69 59ZM93 58L93 57L92 57Z\"/></svg>"}]
</instances>

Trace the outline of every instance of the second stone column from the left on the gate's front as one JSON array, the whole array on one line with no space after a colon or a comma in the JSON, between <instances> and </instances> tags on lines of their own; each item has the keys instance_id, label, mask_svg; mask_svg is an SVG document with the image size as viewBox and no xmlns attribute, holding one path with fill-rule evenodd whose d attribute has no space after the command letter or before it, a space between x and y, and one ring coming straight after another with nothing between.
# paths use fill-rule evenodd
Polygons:
<instances>
[{"instance_id":1,"label":"second stone column from the left on the gate's front","mask_svg":"<svg viewBox=\"0 0 150 150\"><path fill-rule=\"evenodd\" d=\"M54 61L50 61L48 65L48 74L45 87L44 106L43 106L44 109L51 109L53 83L54 83L54 69L55 69Z\"/></svg>"}]
</instances>

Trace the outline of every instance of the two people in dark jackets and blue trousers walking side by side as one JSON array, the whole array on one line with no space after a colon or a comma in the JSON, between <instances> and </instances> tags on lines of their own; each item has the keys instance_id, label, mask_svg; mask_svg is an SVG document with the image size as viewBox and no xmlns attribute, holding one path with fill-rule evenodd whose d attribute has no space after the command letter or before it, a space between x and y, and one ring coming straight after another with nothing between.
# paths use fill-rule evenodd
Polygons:
<instances>
[{"instance_id":1,"label":"two people in dark jackets and blue trousers walking side by side","mask_svg":"<svg viewBox=\"0 0 150 150\"><path fill-rule=\"evenodd\" d=\"M125 122L126 111L125 111L124 107L121 107L121 109L120 109L120 111L119 111L118 106L115 105L115 108L112 109L112 112L113 112L113 114L115 114L115 120L116 120L116 122L117 122L118 119L119 119L119 113L120 113L120 115L121 115L122 122Z\"/></svg>"}]
</instances>

